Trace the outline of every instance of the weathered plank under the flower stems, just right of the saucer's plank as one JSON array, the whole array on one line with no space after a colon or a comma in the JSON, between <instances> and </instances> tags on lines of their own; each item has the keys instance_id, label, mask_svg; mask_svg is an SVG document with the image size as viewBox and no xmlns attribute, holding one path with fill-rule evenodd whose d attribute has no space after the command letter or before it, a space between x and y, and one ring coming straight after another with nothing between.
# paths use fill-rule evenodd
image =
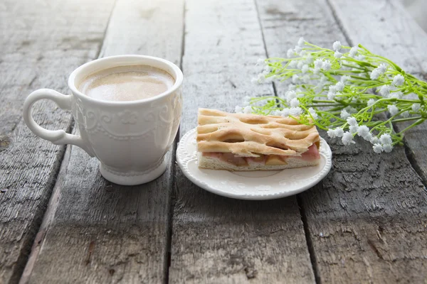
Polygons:
<instances>
[{"instance_id":1,"label":"weathered plank under the flower stems, just right of the saucer's plank","mask_svg":"<svg viewBox=\"0 0 427 284\"><path fill-rule=\"evenodd\" d=\"M371 1L359 1L357 5L335 2L339 2L340 9L347 9L346 15L340 16L342 21L358 19L354 29L347 31L349 38L361 31L370 33L374 18L368 14ZM259 3L265 43L271 55L284 56L300 35L325 46L332 46L334 40L347 41L326 1ZM362 17L364 14L366 18ZM285 39L286 34L291 43ZM376 40L384 43L384 38ZM278 85L278 92L280 89ZM329 138L327 141L333 152L331 173L321 185L299 195L317 282L425 281L427 195L404 148L376 155L371 145L360 139L351 148Z\"/></svg>"}]
</instances>

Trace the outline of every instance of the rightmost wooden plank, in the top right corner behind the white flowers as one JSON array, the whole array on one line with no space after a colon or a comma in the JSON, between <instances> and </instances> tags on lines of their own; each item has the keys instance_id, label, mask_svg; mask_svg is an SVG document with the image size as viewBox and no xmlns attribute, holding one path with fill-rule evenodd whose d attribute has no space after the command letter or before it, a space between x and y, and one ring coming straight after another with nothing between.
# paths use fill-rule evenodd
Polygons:
<instances>
[{"instance_id":1,"label":"rightmost wooden plank, in the top right corner behind the white flowers","mask_svg":"<svg viewBox=\"0 0 427 284\"><path fill-rule=\"evenodd\" d=\"M363 43L372 52L386 55L407 72L427 80L427 33L405 11L401 2L360 1L354 9L349 9L345 2L334 0L331 4L353 44ZM408 124L399 124L397 130L406 126ZM423 140L426 136L427 124L424 123L407 131L404 140L413 166L425 185L427 148Z\"/></svg>"}]
</instances>

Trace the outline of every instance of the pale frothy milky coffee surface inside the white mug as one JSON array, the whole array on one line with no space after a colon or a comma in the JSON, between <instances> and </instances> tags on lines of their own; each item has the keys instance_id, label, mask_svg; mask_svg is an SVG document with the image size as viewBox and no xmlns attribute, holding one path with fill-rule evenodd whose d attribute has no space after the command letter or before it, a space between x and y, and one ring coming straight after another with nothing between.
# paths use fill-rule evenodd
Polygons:
<instances>
[{"instance_id":1,"label":"pale frothy milky coffee surface inside the white mug","mask_svg":"<svg viewBox=\"0 0 427 284\"><path fill-rule=\"evenodd\" d=\"M112 67L93 73L79 84L79 91L105 101L135 101L166 92L174 85L168 72L147 65Z\"/></svg>"}]
</instances>

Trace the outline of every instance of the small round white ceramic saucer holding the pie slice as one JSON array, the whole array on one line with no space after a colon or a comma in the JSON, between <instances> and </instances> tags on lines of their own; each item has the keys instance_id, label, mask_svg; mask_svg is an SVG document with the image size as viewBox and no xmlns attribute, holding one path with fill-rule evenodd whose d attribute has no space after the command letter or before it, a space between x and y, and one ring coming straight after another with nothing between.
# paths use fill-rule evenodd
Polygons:
<instances>
[{"instance_id":1,"label":"small round white ceramic saucer holding the pie slice","mask_svg":"<svg viewBox=\"0 0 427 284\"><path fill-rule=\"evenodd\" d=\"M325 178L332 166L332 152L320 138L320 165L287 170L228 172L197 166L196 129L179 141L176 160L182 173L199 187L217 195L240 200L273 200L295 195Z\"/></svg>"}]
</instances>

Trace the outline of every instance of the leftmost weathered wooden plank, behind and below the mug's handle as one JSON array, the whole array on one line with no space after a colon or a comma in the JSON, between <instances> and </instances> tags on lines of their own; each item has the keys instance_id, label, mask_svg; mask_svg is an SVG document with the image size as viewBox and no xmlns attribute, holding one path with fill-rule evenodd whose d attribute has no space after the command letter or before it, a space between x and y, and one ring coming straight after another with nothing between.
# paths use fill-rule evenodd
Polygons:
<instances>
[{"instance_id":1,"label":"leftmost weathered wooden plank, behind and below the mug's handle","mask_svg":"<svg viewBox=\"0 0 427 284\"><path fill-rule=\"evenodd\" d=\"M99 53L111 9L112 0L0 3L0 283L21 276L65 150L27 129L23 100L41 87L68 92L70 72ZM48 129L70 127L52 102L34 113Z\"/></svg>"}]
</instances>

